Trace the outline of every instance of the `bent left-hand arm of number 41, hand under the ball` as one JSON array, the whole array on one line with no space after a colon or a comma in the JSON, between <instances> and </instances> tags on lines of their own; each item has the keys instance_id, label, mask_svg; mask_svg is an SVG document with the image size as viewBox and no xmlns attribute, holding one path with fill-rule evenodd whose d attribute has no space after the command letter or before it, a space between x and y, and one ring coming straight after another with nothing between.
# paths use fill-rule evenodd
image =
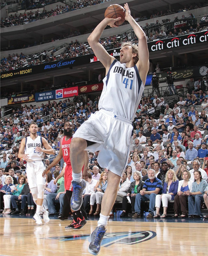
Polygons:
<instances>
[{"instance_id":1,"label":"bent left-hand arm of number 41, hand under the ball","mask_svg":"<svg viewBox=\"0 0 208 256\"><path fill-rule=\"evenodd\" d=\"M115 58L107 53L107 51L102 46L102 44L99 43L99 38L101 37L101 34L107 25L111 27L118 27L114 23L120 19L121 19L120 17L117 19L105 18L104 20L102 20L101 23L98 24L98 26L93 30L93 32L87 38L88 43L90 44L90 47L93 49L95 56L106 68L106 73Z\"/></svg>"}]
</instances>

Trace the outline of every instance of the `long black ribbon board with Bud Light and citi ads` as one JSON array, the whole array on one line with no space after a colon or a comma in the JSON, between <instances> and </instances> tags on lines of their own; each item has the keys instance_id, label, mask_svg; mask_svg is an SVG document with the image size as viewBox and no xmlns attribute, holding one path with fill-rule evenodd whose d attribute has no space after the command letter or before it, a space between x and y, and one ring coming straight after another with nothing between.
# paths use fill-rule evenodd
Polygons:
<instances>
[{"instance_id":1,"label":"long black ribbon board with Bud Light and citi ads","mask_svg":"<svg viewBox=\"0 0 208 256\"><path fill-rule=\"evenodd\" d=\"M181 46L194 46L200 44L207 44L208 43L208 31L198 32L195 34L188 34L188 35L181 35L181 36L174 36L171 38L156 40L152 42L148 42L148 49L150 53L162 51L162 50L172 50L176 49L177 47ZM115 57L118 58L120 56L120 49L111 49L107 52ZM62 61L54 61L50 63L45 63L41 65L35 65L30 67L25 67L23 69L16 69L10 70L6 72L2 72L1 81L6 79L12 79L16 77L23 77L27 75L34 75L40 73L46 73L47 71L52 70L59 70L64 68L72 68L73 66L80 66L80 65L87 65L89 63L93 63L99 61L94 54L88 54L84 56L79 56L75 58L64 59Z\"/></svg>"}]
</instances>

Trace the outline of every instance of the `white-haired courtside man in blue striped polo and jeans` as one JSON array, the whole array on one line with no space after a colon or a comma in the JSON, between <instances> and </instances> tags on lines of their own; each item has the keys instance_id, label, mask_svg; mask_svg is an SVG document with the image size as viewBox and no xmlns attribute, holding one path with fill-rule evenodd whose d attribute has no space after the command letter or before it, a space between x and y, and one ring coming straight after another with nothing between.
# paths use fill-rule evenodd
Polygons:
<instances>
[{"instance_id":1,"label":"white-haired courtside man in blue striped polo and jeans","mask_svg":"<svg viewBox=\"0 0 208 256\"><path fill-rule=\"evenodd\" d=\"M155 171L153 169L148 170L148 179L146 179L143 189L140 193L136 194L136 201L134 205L135 213L133 218L141 218L141 202L149 201L149 214L147 218L153 218L155 197L157 194L161 194L162 182L155 177Z\"/></svg>"}]
</instances>

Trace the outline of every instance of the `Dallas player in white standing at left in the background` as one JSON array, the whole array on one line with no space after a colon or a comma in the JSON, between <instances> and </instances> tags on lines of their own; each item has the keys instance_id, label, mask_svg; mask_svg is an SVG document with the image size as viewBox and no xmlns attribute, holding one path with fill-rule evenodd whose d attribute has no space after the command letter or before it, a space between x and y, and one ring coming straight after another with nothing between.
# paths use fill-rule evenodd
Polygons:
<instances>
[{"instance_id":1,"label":"Dallas player in white standing at left in the background","mask_svg":"<svg viewBox=\"0 0 208 256\"><path fill-rule=\"evenodd\" d=\"M28 184L32 193L34 202L36 203L36 213L33 219L37 224L42 225L42 218L45 223L50 221L48 211L43 207L45 177L42 177L44 168L43 152L55 155L55 150L48 144L48 141L37 135L38 125L35 122L30 124L30 136L22 139L19 158L27 161L26 173ZM44 149L45 148L45 149Z\"/></svg>"}]
</instances>

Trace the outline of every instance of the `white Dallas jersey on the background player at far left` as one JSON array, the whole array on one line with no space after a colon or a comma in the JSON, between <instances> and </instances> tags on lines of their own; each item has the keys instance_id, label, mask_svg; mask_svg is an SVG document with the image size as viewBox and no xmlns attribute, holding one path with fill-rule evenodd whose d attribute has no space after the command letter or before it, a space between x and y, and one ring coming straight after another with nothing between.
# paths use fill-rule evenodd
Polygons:
<instances>
[{"instance_id":1,"label":"white Dallas jersey on the background player at far left","mask_svg":"<svg viewBox=\"0 0 208 256\"><path fill-rule=\"evenodd\" d=\"M42 137L37 136L35 140L30 136L25 137L25 154L29 154L28 162L43 160L43 152L36 152L36 147L43 147Z\"/></svg>"}]
</instances>

